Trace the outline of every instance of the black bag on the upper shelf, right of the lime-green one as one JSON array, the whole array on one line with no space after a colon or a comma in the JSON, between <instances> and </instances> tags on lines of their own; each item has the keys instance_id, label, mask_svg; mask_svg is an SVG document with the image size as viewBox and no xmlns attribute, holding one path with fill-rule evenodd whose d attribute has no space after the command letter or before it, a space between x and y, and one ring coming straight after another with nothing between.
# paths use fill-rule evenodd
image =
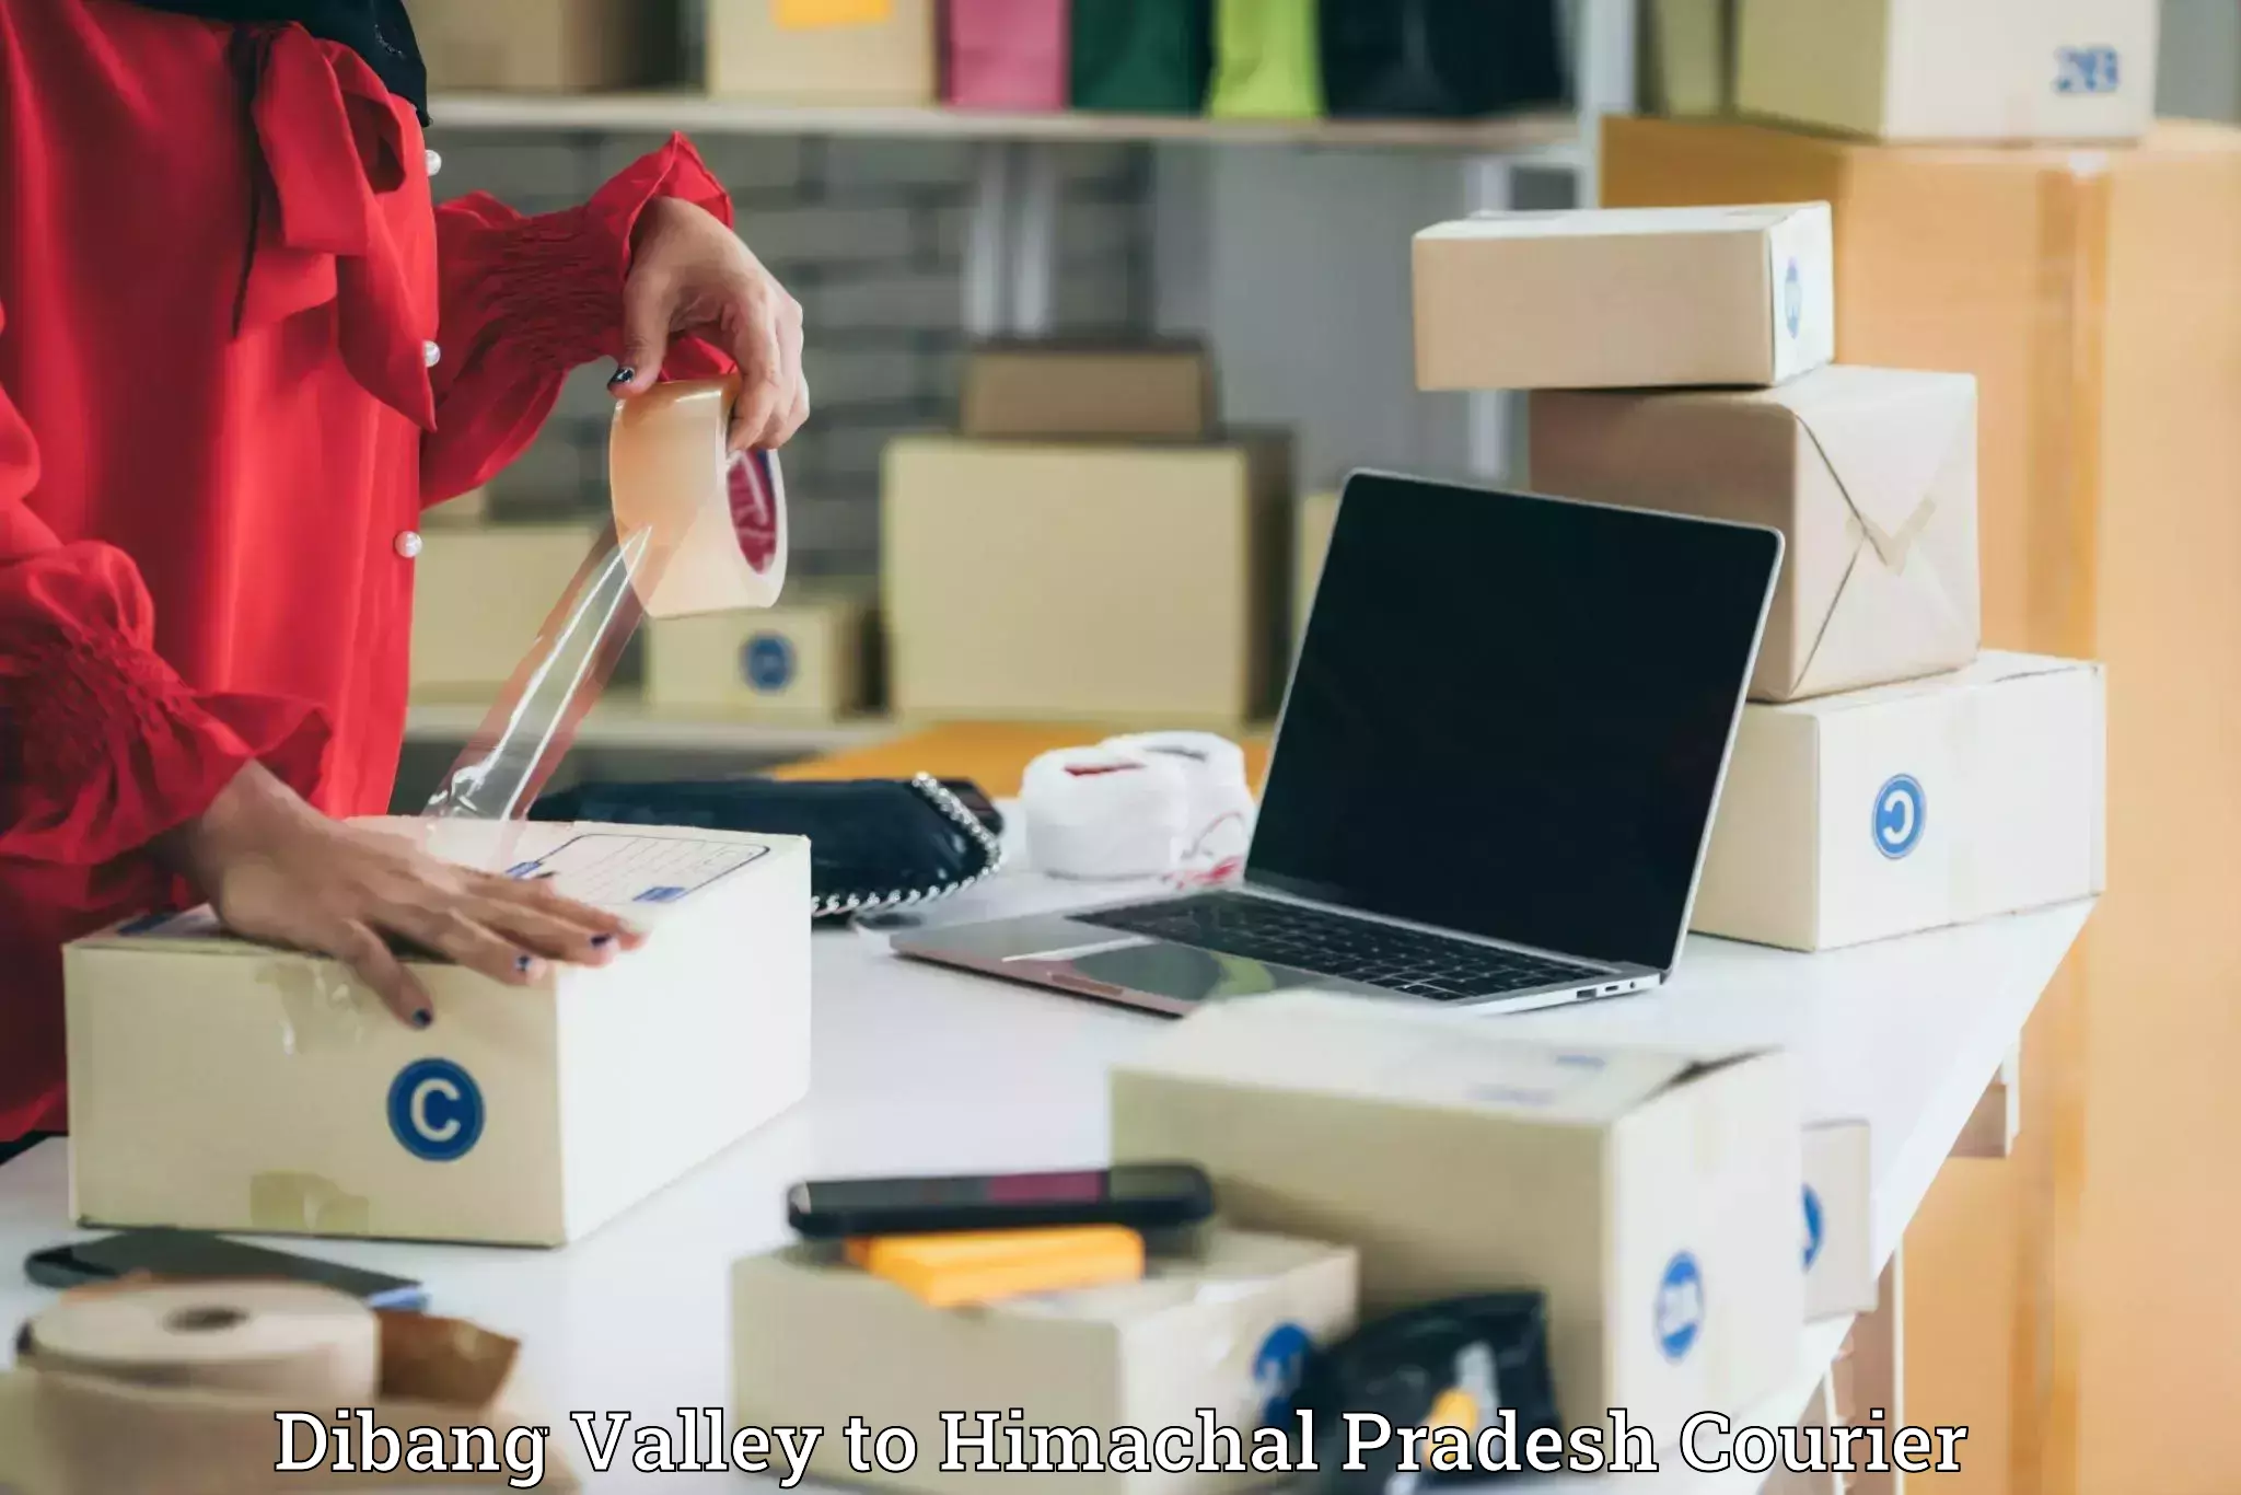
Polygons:
<instances>
[{"instance_id":1,"label":"black bag on the upper shelf, right of the lime-green one","mask_svg":"<svg viewBox=\"0 0 2241 1495\"><path fill-rule=\"evenodd\" d=\"M1322 0L1336 117L1472 119L1566 94L1555 0Z\"/></svg>"}]
</instances>

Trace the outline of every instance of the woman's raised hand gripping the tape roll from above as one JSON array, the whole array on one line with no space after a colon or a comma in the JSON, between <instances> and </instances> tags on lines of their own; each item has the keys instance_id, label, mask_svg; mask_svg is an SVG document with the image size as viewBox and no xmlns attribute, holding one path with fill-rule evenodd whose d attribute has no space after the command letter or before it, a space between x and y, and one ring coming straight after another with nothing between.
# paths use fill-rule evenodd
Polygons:
<instances>
[{"instance_id":1,"label":"woman's raised hand gripping the tape roll from above","mask_svg":"<svg viewBox=\"0 0 2241 1495\"><path fill-rule=\"evenodd\" d=\"M619 399L661 379L670 338L699 334L740 365L731 448L784 446L809 419L802 379L802 305L706 208L657 197L639 215L623 282L623 365L607 381Z\"/></svg>"}]
</instances>

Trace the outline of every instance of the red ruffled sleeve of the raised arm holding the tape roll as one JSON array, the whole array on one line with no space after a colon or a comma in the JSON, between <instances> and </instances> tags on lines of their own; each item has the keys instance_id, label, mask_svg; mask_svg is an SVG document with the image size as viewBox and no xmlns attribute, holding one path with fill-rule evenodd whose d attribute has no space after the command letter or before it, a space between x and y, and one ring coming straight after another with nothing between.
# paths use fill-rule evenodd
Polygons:
<instances>
[{"instance_id":1,"label":"red ruffled sleeve of the raised arm holding the tape roll","mask_svg":"<svg viewBox=\"0 0 2241 1495\"><path fill-rule=\"evenodd\" d=\"M421 455L424 502L489 482L536 437L569 370L621 356L630 240L657 197L681 197L731 224L731 197L681 134L580 208L524 217L489 193L437 208L444 356L437 428ZM704 379L728 368L686 341L670 350L666 372Z\"/></svg>"}]
</instances>

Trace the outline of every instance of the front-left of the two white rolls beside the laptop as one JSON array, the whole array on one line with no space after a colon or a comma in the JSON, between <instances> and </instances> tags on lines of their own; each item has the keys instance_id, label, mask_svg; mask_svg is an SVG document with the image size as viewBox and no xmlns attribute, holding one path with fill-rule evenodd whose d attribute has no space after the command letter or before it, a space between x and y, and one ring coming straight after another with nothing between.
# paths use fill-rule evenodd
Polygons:
<instances>
[{"instance_id":1,"label":"front-left of the two white rolls beside the laptop","mask_svg":"<svg viewBox=\"0 0 2241 1495\"><path fill-rule=\"evenodd\" d=\"M1163 876L1190 834L1190 780L1172 758L1060 749L1026 764L1020 809L1038 872L1085 881Z\"/></svg>"}]
</instances>

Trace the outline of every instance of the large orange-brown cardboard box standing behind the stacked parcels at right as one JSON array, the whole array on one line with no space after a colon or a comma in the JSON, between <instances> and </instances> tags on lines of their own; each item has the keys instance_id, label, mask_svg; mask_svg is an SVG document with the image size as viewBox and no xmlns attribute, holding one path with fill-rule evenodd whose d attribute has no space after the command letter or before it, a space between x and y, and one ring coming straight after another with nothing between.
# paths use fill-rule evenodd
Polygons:
<instances>
[{"instance_id":1,"label":"large orange-brown cardboard box standing behind the stacked parcels at right","mask_svg":"<svg viewBox=\"0 0 2241 1495\"><path fill-rule=\"evenodd\" d=\"M2221 1488L2241 1192L2205 1192L2196 1159L2241 1136L2241 1040L2203 1024L2241 971L2241 132L1970 150L1614 119L1602 184L1831 199L1838 354L1977 374L1986 643L2107 663L2111 890L2026 1038L2055 1078L2015 1166L1945 1170L1916 1222L1909 1421L1997 1439L2008 1390L2037 1387L2012 1488ZM2122 1020L2086 1029L2082 1004ZM1997 1311L1986 1280L2015 1280ZM2142 1446L2149 1421L2205 1432Z\"/></svg>"}]
</instances>

